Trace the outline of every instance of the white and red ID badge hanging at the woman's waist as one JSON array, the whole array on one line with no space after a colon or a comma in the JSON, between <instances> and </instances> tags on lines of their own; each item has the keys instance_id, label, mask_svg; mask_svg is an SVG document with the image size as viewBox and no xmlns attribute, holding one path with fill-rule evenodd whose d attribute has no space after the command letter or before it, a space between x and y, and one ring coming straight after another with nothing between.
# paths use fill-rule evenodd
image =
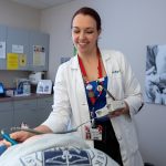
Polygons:
<instances>
[{"instance_id":1,"label":"white and red ID badge hanging at the woman's waist","mask_svg":"<svg viewBox=\"0 0 166 166\"><path fill-rule=\"evenodd\" d=\"M102 133L103 128L101 125L95 128L87 125L85 126L85 139L102 141Z\"/></svg>"}]
</instances>

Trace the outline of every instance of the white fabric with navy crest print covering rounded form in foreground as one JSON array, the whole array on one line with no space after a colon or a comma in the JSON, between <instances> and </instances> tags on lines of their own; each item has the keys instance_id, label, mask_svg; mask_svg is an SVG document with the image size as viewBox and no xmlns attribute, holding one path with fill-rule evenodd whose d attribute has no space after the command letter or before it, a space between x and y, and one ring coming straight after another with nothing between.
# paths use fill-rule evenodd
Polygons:
<instances>
[{"instance_id":1,"label":"white fabric with navy crest print covering rounded form in foreground","mask_svg":"<svg viewBox=\"0 0 166 166\"><path fill-rule=\"evenodd\" d=\"M90 147L74 134L42 134L9 147L1 156L2 166L118 166L103 152Z\"/></svg>"}]
</instances>

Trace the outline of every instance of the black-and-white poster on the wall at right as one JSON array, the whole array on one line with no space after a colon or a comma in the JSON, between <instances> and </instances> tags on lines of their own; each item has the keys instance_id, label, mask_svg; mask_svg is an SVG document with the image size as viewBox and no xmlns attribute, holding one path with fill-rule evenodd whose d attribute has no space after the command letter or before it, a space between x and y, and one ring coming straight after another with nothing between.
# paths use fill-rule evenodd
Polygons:
<instances>
[{"instance_id":1,"label":"black-and-white poster on the wall at right","mask_svg":"<svg viewBox=\"0 0 166 166\"><path fill-rule=\"evenodd\" d=\"M166 105L166 44L147 45L145 102Z\"/></svg>"}]
</instances>

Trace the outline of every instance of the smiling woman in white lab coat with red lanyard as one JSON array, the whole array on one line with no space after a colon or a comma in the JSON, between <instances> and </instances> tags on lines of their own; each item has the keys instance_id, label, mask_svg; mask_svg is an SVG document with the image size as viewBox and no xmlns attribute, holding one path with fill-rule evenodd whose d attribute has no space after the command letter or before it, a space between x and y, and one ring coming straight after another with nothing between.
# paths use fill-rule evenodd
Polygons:
<instances>
[{"instance_id":1,"label":"smiling woman in white lab coat with red lanyard","mask_svg":"<svg viewBox=\"0 0 166 166\"><path fill-rule=\"evenodd\" d=\"M143 101L129 64L121 52L98 49L101 18L95 10L86 7L77 10L71 27L77 54L60 65L54 83L53 111L35 129L63 132L92 120L75 134L121 166L143 166L133 122ZM107 111L106 105L114 100L125 104L107 116L96 118L96 111ZM21 142L30 136L32 134L25 132L11 134Z\"/></svg>"}]
</instances>

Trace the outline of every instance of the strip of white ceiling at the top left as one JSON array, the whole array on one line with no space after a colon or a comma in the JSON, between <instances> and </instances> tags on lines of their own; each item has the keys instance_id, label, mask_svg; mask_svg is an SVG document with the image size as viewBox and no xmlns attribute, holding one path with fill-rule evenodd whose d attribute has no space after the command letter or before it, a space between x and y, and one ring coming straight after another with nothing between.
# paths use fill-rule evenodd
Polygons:
<instances>
[{"instance_id":1,"label":"strip of white ceiling at the top left","mask_svg":"<svg viewBox=\"0 0 166 166\"><path fill-rule=\"evenodd\" d=\"M35 9L45 9L62 3L66 3L73 0L10 0L10 1L25 4Z\"/></svg>"}]
</instances>

